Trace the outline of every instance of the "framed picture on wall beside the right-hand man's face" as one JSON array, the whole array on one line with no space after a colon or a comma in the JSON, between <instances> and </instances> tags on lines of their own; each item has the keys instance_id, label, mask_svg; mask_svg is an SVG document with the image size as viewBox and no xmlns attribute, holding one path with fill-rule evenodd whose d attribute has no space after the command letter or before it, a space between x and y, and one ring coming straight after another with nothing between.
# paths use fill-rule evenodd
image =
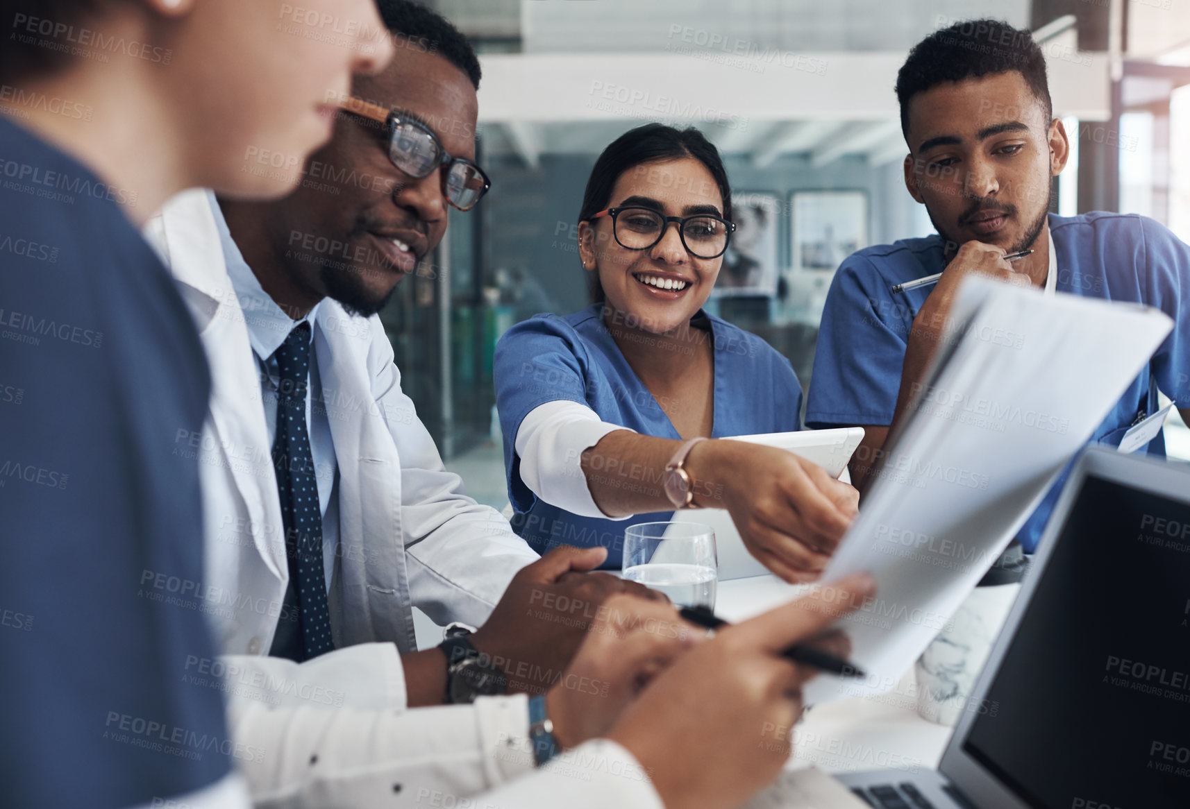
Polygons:
<instances>
[{"instance_id":1,"label":"framed picture on wall beside the right-hand man's face","mask_svg":"<svg viewBox=\"0 0 1190 809\"><path fill-rule=\"evenodd\" d=\"M794 192L789 208L796 271L833 274L868 246L868 192Z\"/></svg>"}]
</instances>

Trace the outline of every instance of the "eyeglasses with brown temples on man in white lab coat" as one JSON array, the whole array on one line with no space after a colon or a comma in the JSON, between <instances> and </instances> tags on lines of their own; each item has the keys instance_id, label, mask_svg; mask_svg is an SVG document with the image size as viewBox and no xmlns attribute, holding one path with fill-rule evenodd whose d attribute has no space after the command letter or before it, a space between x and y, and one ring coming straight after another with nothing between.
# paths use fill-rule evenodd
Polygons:
<instances>
[{"instance_id":1,"label":"eyeglasses with brown temples on man in white lab coat","mask_svg":"<svg viewBox=\"0 0 1190 809\"><path fill-rule=\"evenodd\" d=\"M363 99L347 98L339 104L343 109L361 118L384 124L388 128L388 159L411 177L428 177L439 165L443 171L443 194L459 211L470 211L491 188L491 181L475 162L453 157L433 130L419 120L401 115Z\"/></svg>"}]
</instances>

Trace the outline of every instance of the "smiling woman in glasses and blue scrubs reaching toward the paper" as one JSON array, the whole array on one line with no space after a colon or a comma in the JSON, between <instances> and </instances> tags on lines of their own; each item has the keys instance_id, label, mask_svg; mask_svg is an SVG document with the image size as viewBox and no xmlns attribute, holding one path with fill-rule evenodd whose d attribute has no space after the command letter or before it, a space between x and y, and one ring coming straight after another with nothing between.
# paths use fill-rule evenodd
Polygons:
<instances>
[{"instance_id":1,"label":"smiling woman in glasses and blue scrubs reaching toward the paper","mask_svg":"<svg viewBox=\"0 0 1190 809\"><path fill-rule=\"evenodd\" d=\"M618 567L624 518L726 508L770 570L816 578L854 489L784 450L721 440L800 429L802 391L789 360L702 311L734 230L719 152L694 128L627 132L596 161L578 219L596 302L496 346L513 527L540 552L606 546Z\"/></svg>"}]
</instances>

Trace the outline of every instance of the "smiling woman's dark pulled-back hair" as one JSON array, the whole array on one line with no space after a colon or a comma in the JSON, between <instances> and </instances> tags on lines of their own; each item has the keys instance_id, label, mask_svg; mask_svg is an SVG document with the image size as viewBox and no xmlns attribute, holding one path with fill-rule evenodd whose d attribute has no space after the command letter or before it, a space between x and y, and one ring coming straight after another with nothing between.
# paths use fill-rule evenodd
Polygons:
<instances>
[{"instance_id":1,"label":"smiling woman's dark pulled-back hair","mask_svg":"<svg viewBox=\"0 0 1190 809\"><path fill-rule=\"evenodd\" d=\"M587 221L608 206L612 189L624 173L645 163L662 163L693 157L710 171L719 194L724 197L724 219L732 220L732 188L727 182L727 170L719 157L719 150L699 130L691 127L676 130L664 124L645 124L630 130L613 140L595 161L591 176L587 180L583 192L583 207L578 211L578 221ZM599 272L593 272L595 280L591 288L591 300L603 302L603 287L599 282Z\"/></svg>"}]
</instances>

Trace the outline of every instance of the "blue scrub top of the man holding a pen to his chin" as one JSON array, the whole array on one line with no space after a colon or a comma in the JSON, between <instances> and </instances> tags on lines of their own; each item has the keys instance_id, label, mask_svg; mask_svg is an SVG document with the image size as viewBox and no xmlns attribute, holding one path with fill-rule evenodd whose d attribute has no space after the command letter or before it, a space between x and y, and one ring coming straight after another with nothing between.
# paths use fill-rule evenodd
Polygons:
<instances>
[{"instance_id":1,"label":"blue scrub top of the man holding a pen to his chin","mask_svg":"<svg viewBox=\"0 0 1190 809\"><path fill-rule=\"evenodd\" d=\"M1135 214L1051 215L1050 232L1059 293L1147 303L1175 322L1148 366L1091 437L1092 444L1119 446L1129 426L1157 410L1158 389L1176 407L1190 407L1190 246ZM807 425L892 421L909 328L933 288L894 295L891 287L941 269L942 239L937 234L868 247L844 261L822 313ZM1148 452L1164 457L1165 439L1153 439ZM1070 466L1017 534L1026 552L1036 547L1069 471Z\"/></svg>"}]
</instances>

